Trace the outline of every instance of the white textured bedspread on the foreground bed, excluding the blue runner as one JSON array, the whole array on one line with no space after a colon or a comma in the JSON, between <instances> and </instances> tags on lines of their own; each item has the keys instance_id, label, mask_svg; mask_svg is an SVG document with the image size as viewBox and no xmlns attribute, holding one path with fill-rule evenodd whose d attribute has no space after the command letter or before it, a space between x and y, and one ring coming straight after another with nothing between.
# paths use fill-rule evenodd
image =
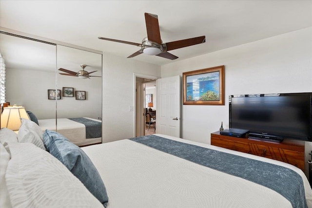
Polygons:
<instances>
[{"instance_id":1,"label":"white textured bedspread on the foreground bed, excluding the blue runner","mask_svg":"<svg viewBox=\"0 0 312 208\"><path fill-rule=\"evenodd\" d=\"M290 164L156 135L291 168L303 177L307 203L312 207L312 190L306 176ZM108 208L292 208L287 199L271 189L127 139L82 150L103 179Z\"/></svg>"}]
</instances>

